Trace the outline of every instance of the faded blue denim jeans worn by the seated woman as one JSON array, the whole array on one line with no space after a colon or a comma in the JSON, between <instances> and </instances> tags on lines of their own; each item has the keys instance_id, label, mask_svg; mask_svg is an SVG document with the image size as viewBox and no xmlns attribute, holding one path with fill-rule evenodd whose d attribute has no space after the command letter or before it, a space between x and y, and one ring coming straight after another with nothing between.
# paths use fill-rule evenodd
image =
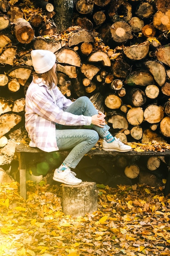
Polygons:
<instances>
[{"instance_id":1,"label":"faded blue denim jeans worn by the seated woman","mask_svg":"<svg viewBox=\"0 0 170 256\"><path fill-rule=\"evenodd\" d=\"M88 97L83 96L66 109L74 115L93 116L98 114L96 108ZM76 168L82 157L96 144L99 137L110 127L103 128L90 126L63 126L56 124L56 141L59 150L72 149L63 161L70 168Z\"/></svg>"}]
</instances>

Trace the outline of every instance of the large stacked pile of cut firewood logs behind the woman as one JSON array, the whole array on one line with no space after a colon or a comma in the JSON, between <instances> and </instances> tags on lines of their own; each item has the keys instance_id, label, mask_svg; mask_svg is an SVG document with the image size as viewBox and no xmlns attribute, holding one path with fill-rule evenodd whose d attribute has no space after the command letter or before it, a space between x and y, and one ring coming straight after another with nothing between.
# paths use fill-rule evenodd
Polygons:
<instances>
[{"instance_id":1,"label":"large stacked pile of cut firewood logs behind the woman","mask_svg":"<svg viewBox=\"0 0 170 256\"><path fill-rule=\"evenodd\" d=\"M74 0L61 34L53 3L0 0L0 165L11 163L11 141L27 137L31 49L55 53L61 92L89 97L124 143L169 143L169 30L169 0Z\"/></svg>"}]
</instances>

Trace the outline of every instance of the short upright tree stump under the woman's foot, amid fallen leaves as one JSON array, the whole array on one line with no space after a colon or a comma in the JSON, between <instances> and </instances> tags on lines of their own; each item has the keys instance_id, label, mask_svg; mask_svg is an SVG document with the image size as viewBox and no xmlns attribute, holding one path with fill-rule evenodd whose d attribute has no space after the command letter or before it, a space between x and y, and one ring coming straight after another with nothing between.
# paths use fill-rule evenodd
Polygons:
<instances>
[{"instance_id":1,"label":"short upright tree stump under the woman's foot, amid fallen leaves","mask_svg":"<svg viewBox=\"0 0 170 256\"><path fill-rule=\"evenodd\" d=\"M85 216L97 210L98 190L95 182L82 182L78 185L62 186L63 213L72 216Z\"/></svg>"}]
</instances>

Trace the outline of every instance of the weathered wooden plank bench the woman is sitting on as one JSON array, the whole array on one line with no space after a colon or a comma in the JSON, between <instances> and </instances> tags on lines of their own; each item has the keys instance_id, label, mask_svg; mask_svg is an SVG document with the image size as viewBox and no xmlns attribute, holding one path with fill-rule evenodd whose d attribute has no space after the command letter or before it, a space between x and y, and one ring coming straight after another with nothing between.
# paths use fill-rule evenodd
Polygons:
<instances>
[{"instance_id":1,"label":"weathered wooden plank bench the woman is sitting on","mask_svg":"<svg viewBox=\"0 0 170 256\"><path fill-rule=\"evenodd\" d=\"M20 195L26 199L27 189L26 189L26 155L27 153L45 153L39 148L29 147L24 144L16 145L16 152L19 153L19 171L20 171ZM68 154L69 151L56 151L56 154ZM166 150L165 152L155 152L155 151L144 151L144 152L116 152L116 151L104 151L100 149L90 150L87 155L98 155L98 156L119 156L119 155L138 155L138 156L170 156L170 150ZM168 166L169 167L169 166ZM167 177L164 193L168 194L170 190L170 171Z\"/></svg>"}]
</instances>

